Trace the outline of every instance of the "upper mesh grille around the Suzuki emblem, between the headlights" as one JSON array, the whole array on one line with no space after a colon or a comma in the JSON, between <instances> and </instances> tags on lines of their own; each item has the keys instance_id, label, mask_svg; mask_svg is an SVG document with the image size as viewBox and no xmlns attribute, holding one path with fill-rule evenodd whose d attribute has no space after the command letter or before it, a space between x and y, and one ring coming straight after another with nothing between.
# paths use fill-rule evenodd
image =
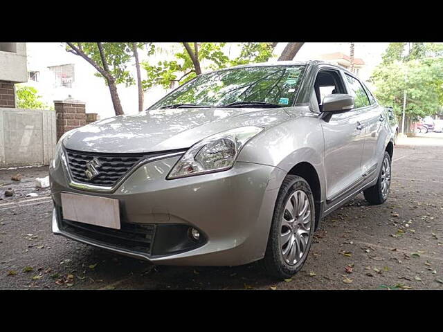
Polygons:
<instances>
[{"instance_id":1,"label":"upper mesh grille around the Suzuki emblem, between the headlights","mask_svg":"<svg viewBox=\"0 0 443 332\"><path fill-rule=\"evenodd\" d=\"M140 160L150 156L159 156L160 154L94 154L66 149L66 155L73 180L80 183L111 187ZM85 171L87 170L87 163L93 158L97 158L101 166L98 168L99 175L89 180Z\"/></svg>"}]
</instances>

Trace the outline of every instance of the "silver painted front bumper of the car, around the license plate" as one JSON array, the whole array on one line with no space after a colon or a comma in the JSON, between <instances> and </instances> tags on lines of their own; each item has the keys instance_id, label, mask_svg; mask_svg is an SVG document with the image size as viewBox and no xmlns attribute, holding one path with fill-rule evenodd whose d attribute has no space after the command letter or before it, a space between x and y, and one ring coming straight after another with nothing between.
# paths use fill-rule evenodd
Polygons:
<instances>
[{"instance_id":1,"label":"silver painted front bumper of the car, around the license plate","mask_svg":"<svg viewBox=\"0 0 443 332\"><path fill-rule=\"evenodd\" d=\"M75 189L68 184L62 163L51 167L54 234L154 264L235 266L264 257L275 199L285 172L267 165L237 162L225 172L165 180L178 159L174 156L141 165L112 193ZM197 228L203 240L195 246L181 246L181 250L168 252L166 248L166 253L159 254L128 249L110 243L106 237L98 241L86 233L71 232L61 227L62 214L57 212L61 192L118 199L122 223L148 228L152 225L155 230L172 229L174 225ZM172 241L170 237L165 232L162 236L153 232L152 248L165 247Z\"/></svg>"}]
</instances>

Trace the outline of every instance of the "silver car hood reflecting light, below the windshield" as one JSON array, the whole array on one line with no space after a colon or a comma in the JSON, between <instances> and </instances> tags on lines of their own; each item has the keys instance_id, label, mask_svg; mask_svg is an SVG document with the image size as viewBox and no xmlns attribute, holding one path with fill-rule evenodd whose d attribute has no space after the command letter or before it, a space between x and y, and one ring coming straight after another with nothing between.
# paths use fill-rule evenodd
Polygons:
<instances>
[{"instance_id":1,"label":"silver car hood reflecting light, below the windshield","mask_svg":"<svg viewBox=\"0 0 443 332\"><path fill-rule=\"evenodd\" d=\"M242 126L264 129L289 118L286 108L155 109L115 116L74 129L63 141L67 149L105 153L139 153L186 149L210 135Z\"/></svg>"}]
</instances>

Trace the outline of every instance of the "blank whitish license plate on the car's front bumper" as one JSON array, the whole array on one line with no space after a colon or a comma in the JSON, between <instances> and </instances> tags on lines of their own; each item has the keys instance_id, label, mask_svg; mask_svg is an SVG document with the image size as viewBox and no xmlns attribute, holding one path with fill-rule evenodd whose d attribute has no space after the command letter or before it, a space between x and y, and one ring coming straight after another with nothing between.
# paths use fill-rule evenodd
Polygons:
<instances>
[{"instance_id":1,"label":"blank whitish license plate on the car's front bumper","mask_svg":"<svg viewBox=\"0 0 443 332\"><path fill-rule=\"evenodd\" d=\"M120 230L118 199L62 192L63 218Z\"/></svg>"}]
</instances>

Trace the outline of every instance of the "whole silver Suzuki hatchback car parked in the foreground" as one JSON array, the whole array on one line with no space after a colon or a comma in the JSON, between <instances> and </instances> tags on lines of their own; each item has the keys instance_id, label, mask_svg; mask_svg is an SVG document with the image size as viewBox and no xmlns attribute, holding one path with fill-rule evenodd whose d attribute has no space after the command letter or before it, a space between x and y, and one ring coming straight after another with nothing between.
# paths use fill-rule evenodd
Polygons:
<instances>
[{"instance_id":1,"label":"whole silver Suzuki hatchback car parked in the foreground","mask_svg":"<svg viewBox=\"0 0 443 332\"><path fill-rule=\"evenodd\" d=\"M199 75L150 109L65 133L53 233L153 264L262 259L290 277L323 216L390 190L392 132L358 77L322 62Z\"/></svg>"}]
</instances>

